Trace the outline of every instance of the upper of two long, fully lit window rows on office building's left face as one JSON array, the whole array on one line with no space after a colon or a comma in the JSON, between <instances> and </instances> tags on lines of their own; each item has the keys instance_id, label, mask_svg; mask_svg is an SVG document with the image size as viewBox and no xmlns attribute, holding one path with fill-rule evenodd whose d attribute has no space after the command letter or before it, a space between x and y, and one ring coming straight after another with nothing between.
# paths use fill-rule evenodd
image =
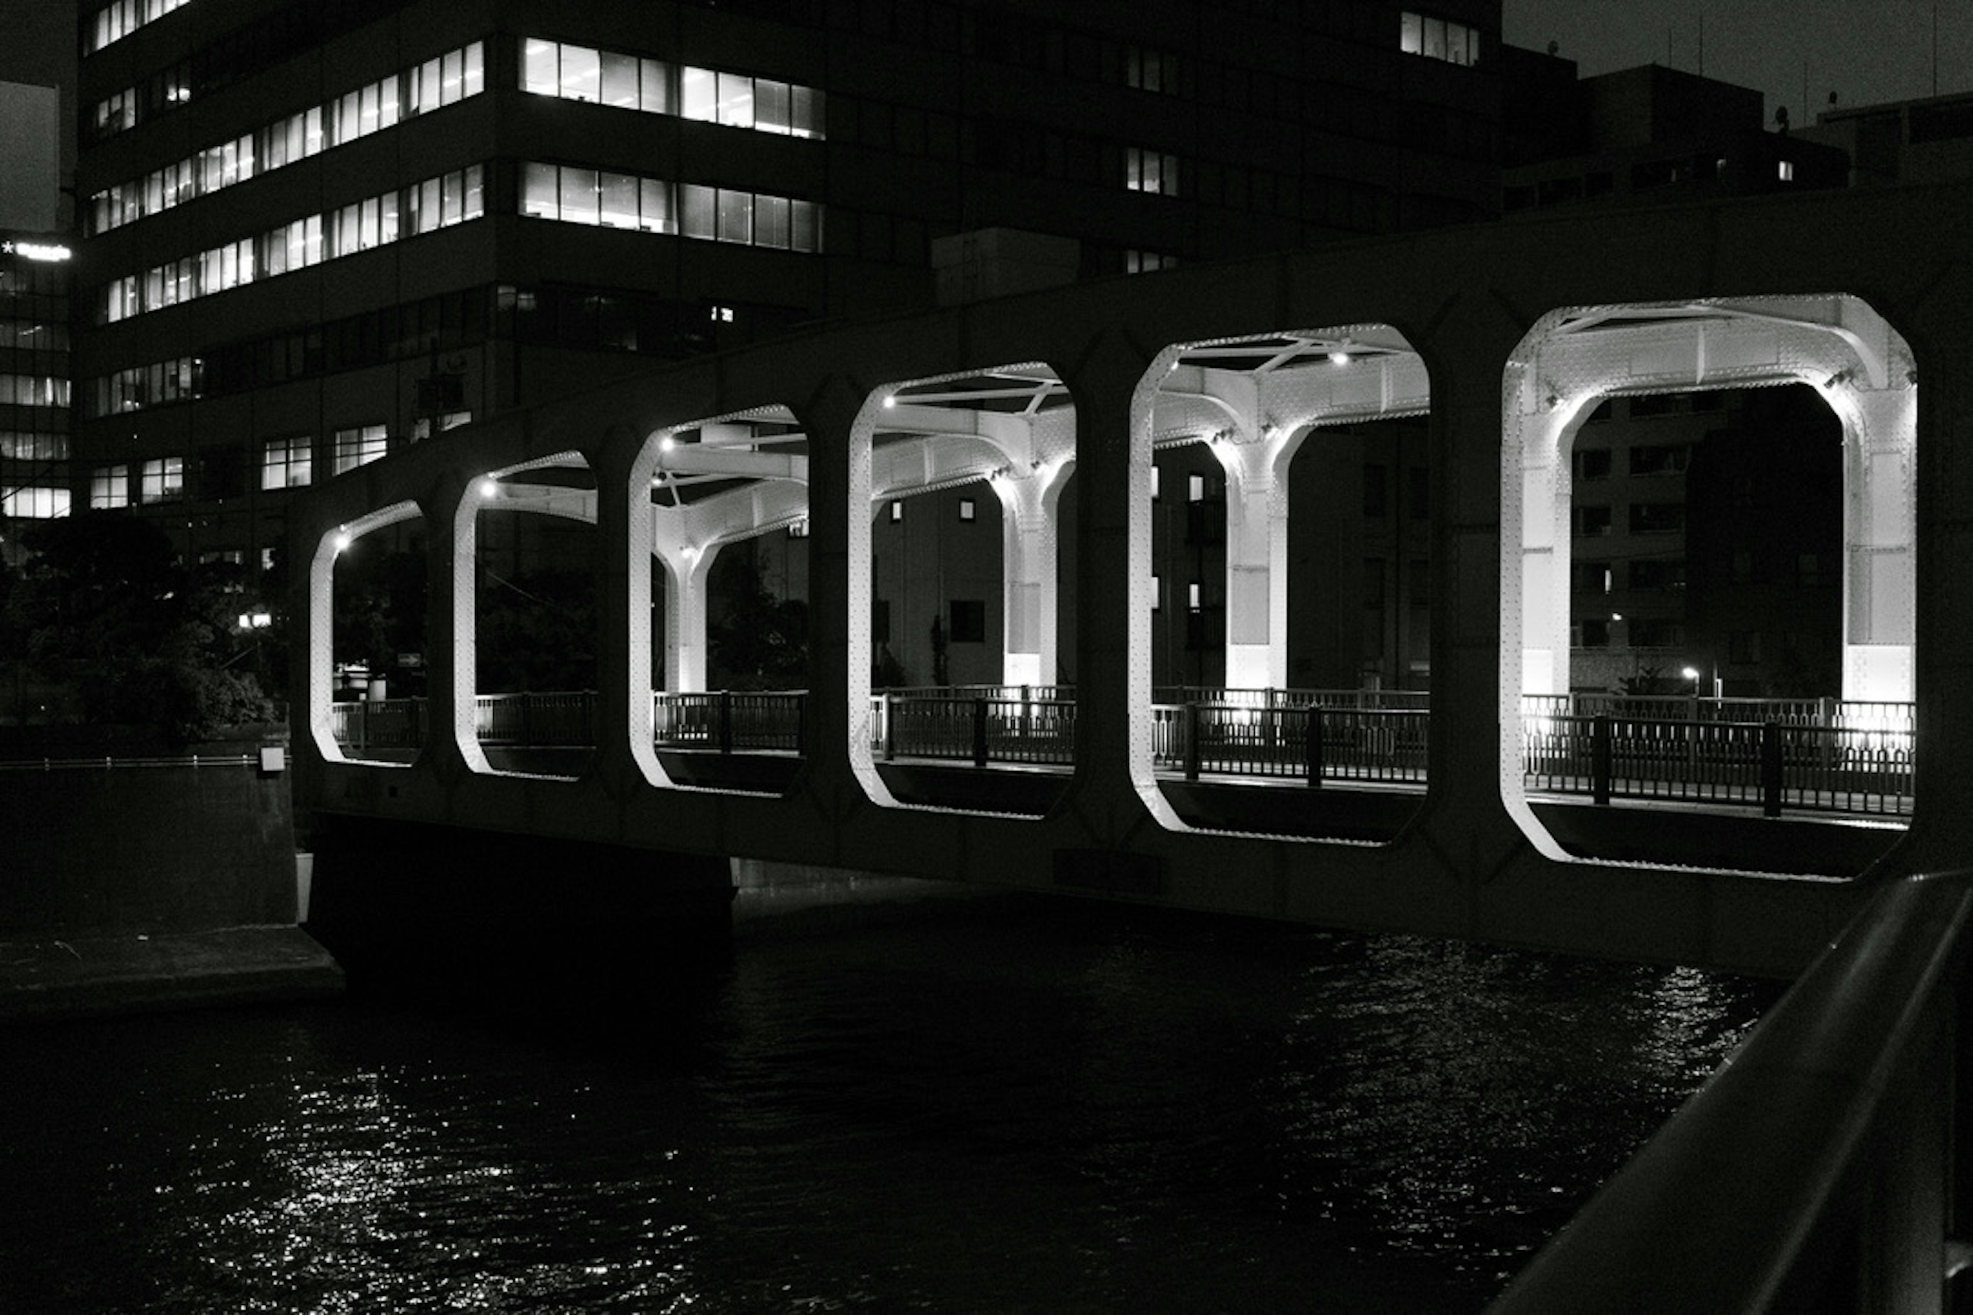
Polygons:
<instances>
[{"instance_id":1,"label":"upper of two long, fully lit window rows on office building's left face","mask_svg":"<svg viewBox=\"0 0 1973 1315\"><path fill-rule=\"evenodd\" d=\"M207 146L140 179L105 187L91 197L91 231L107 233L144 215L168 211L191 197L258 177L481 91L485 91L485 45L474 41L343 93L326 104L276 118L258 132Z\"/></svg>"}]
</instances>

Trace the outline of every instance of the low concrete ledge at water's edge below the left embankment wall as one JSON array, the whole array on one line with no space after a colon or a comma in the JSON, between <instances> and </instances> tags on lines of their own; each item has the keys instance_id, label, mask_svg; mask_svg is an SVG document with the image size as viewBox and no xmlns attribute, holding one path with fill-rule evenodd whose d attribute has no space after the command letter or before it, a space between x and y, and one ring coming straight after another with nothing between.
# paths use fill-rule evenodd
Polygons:
<instances>
[{"instance_id":1,"label":"low concrete ledge at water's edge below the left embankment wall","mask_svg":"<svg viewBox=\"0 0 1973 1315\"><path fill-rule=\"evenodd\" d=\"M298 927L0 938L0 1023L339 996L343 970Z\"/></svg>"}]
</instances>

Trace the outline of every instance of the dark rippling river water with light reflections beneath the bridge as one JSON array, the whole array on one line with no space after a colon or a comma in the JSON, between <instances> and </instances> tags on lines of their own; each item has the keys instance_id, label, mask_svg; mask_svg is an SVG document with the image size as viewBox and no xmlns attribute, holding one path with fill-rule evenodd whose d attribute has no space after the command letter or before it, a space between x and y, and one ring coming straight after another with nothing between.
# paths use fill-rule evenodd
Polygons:
<instances>
[{"instance_id":1,"label":"dark rippling river water with light reflections beneath the bridge","mask_svg":"<svg viewBox=\"0 0 1973 1315\"><path fill-rule=\"evenodd\" d=\"M967 901L0 1031L0 1311L1472 1311L1776 990Z\"/></svg>"}]
</instances>

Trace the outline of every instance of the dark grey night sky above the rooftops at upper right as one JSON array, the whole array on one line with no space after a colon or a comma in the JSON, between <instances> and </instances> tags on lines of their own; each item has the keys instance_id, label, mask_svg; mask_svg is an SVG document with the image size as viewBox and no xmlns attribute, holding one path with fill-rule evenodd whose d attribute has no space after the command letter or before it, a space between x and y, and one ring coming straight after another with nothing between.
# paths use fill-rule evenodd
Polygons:
<instances>
[{"instance_id":1,"label":"dark grey night sky above the rooftops at upper right","mask_svg":"<svg viewBox=\"0 0 1973 1315\"><path fill-rule=\"evenodd\" d=\"M1937 14L1937 91L1973 89L1973 4L1967 0L1505 0L1503 35L1543 49L1557 41L1588 77L1669 63L1756 87L1797 124L1803 73L1811 110L1932 95L1932 20Z\"/></svg>"}]
</instances>

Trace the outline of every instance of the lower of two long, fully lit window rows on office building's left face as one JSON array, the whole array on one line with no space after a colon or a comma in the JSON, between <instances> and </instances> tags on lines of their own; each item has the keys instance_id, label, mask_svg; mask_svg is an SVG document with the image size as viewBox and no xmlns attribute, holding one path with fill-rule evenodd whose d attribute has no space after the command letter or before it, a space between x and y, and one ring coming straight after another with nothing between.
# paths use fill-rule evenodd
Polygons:
<instances>
[{"instance_id":1,"label":"lower of two long, fully lit window rows on office building's left face","mask_svg":"<svg viewBox=\"0 0 1973 1315\"><path fill-rule=\"evenodd\" d=\"M324 260L446 229L485 213L485 170L468 166L381 197L308 215L260 237L213 246L103 286L105 321L128 319Z\"/></svg>"}]
</instances>

